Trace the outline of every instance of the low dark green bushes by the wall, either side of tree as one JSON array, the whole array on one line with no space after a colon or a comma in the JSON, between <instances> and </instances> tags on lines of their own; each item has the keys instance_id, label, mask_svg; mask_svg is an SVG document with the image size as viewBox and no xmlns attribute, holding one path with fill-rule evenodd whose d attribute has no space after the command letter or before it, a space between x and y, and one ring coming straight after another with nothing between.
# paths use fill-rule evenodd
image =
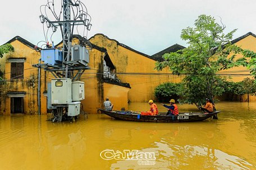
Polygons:
<instances>
[{"instance_id":1,"label":"low dark green bushes by the wall, either side of tree","mask_svg":"<svg viewBox=\"0 0 256 170\"><path fill-rule=\"evenodd\" d=\"M191 81L193 83L198 83L197 89L189 88L186 86L186 83L163 83L155 88L154 94L158 98L159 101L168 102L171 98L179 101L180 103L193 103L191 98L194 98L194 93L197 93L198 100L196 101L197 105L203 105L205 103L205 93L206 90L204 86L201 86L201 81L198 81L198 78L195 78L195 81ZM198 82L197 82L198 81ZM225 78L216 79L214 82L214 91L216 92L216 96L228 95L229 100L232 100L232 96L238 95L256 95L256 82L254 79L245 78L241 82L232 82L227 81ZM200 93L198 93L200 91ZM249 99L248 99L249 100Z\"/></svg>"}]
</instances>

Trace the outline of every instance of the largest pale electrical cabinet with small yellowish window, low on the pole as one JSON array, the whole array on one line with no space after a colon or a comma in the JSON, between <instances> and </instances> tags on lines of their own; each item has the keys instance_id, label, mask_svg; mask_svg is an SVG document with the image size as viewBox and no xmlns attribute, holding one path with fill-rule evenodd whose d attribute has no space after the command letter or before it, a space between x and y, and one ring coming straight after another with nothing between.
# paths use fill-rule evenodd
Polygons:
<instances>
[{"instance_id":1,"label":"largest pale electrical cabinet with small yellowish window, low on the pole","mask_svg":"<svg viewBox=\"0 0 256 170\"><path fill-rule=\"evenodd\" d=\"M72 102L72 81L70 78L52 79L52 105Z\"/></svg>"}]
</instances>

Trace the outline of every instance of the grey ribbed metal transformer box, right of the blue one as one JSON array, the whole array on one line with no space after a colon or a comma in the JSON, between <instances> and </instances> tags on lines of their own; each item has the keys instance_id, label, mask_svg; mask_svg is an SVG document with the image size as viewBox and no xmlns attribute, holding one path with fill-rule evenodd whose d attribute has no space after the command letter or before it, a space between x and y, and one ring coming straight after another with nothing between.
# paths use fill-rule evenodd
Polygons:
<instances>
[{"instance_id":1,"label":"grey ribbed metal transformer box, right of the blue one","mask_svg":"<svg viewBox=\"0 0 256 170\"><path fill-rule=\"evenodd\" d=\"M71 60L89 63L89 51L81 45L75 45L71 48Z\"/></svg>"}]
</instances>

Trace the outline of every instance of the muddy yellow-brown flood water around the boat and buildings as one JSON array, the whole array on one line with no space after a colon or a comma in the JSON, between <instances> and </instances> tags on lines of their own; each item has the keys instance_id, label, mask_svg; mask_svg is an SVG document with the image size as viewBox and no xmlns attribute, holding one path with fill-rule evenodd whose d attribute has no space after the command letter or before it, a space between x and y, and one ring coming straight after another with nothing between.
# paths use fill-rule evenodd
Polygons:
<instances>
[{"instance_id":1,"label":"muddy yellow-brown flood water around the boat and buildings","mask_svg":"<svg viewBox=\"0 0 256 170\"><path fill-rule=\"evenodd\" d=\"M216 107L218 120L182 123L119 121L103 114L60 123L45 121L47 115L0 116L0 169L256 169L256 103ZM179 110L197 111L193 105ZM140 157L121 157L125 152Z\"/></svg>"}]
</instances>

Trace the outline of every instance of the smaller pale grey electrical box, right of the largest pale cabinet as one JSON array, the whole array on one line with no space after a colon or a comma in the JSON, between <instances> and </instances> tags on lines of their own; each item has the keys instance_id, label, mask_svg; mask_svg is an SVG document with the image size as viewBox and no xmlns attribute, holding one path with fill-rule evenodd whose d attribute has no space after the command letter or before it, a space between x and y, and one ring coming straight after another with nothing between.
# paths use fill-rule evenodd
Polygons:
<instances>
[{"instance_id":1,"label":"smaller pale grey electrical box, right of the largest pale cabinet","mask_svg":"<svg viewBox=\"0 0 256 170\"><path fill-rule=\"evenodd\" d=\"M84 82L72 82L72 101L84 100Z\"/></svg>"}]
</instances>

